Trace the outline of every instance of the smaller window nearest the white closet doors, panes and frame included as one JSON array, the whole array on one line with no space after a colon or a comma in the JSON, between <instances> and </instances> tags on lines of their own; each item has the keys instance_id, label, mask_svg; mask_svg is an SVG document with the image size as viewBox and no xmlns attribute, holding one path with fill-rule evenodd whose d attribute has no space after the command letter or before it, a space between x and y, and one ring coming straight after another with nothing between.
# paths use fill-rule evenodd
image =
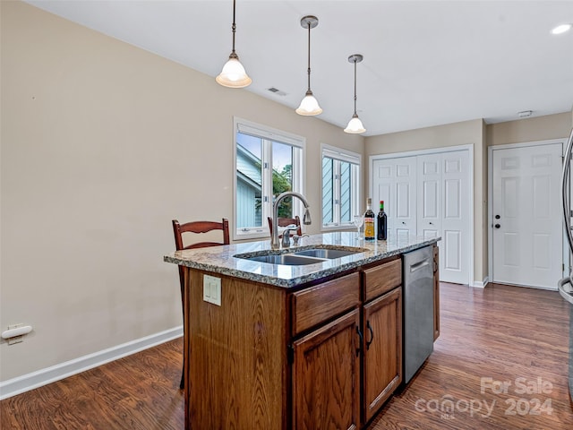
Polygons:
<instances>
[{"instance_id":1,"label":"smaller window nearest the white closet doors, panes and frame included","mask_svg":"<svg viewBox=\"0 0 573 430\"><path fill-rule=\"evenodd\" d=\"M360 162L354 152L321 145L322 228L353 225L360 214Z\"/></svg>"}]
</instances>

